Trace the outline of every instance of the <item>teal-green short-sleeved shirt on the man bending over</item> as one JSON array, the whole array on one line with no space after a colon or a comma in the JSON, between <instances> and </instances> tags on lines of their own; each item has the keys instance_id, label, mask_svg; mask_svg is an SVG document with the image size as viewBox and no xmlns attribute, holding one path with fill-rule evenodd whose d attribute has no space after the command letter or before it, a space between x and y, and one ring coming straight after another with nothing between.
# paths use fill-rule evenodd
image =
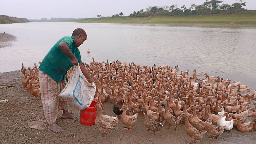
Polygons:
<instances>
[{"instance_id":1,"label":"teal-green short-sleeved shirt on the man bending over","mask_svg":"<svg viewBox=\"0 0 256 144\"><path fill-rule=\"evenodd\" d=\"M60 82L67 74L68 69L74 65L71 63L70 58L60 50L60 42L68 43L70 51L77 58L78 63L81 63L81 55L79 49L76 47L76 42L73 36L64 36L56 44L53 45L52 49L44 57L41 62L39 69L51 76L56 82Z\"/></svg>"}]
</instances>

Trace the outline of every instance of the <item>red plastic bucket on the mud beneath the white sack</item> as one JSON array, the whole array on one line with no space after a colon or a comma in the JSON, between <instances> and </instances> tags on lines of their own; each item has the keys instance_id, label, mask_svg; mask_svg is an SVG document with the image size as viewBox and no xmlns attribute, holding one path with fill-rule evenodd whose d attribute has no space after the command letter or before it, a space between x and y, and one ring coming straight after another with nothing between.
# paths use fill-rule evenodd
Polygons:
<instances>
[{"instance_id":1,"label":"red plastic bucket on the mud beneath the white sack","mask_svg":"<svg viewBox=\"0 0 256 144\"><path fill-rule=\"evenodd\" d=\"M98 101L92 100L92 103L89 107L84 110L80 110L80 122L84 125L93 125L97 116L97 108L93 107L96 103L100 105Z\"/></svg>"}]
</instances>

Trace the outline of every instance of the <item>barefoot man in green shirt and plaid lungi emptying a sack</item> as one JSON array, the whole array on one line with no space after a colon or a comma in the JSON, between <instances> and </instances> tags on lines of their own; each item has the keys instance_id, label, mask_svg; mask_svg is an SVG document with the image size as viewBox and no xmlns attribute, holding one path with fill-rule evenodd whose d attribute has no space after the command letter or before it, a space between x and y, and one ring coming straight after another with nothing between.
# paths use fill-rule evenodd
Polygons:
<instances>
[{"instance_id":1,"label":"barefoot man in green shirt and plaid lungi emptying a sack","mask_svg":"<svg viewBox=\"0 0 256 144\"><path fill-rule=\"evenodd\" d=\"M65 87L68 69L74 65L81 68L82 73L92 84L93 80L81 61L79 47L87 39L82 28L73 31L72 36L62 37L47 53L39 67L39 83L41 98L44 107L44 116L49 124L49 129L60 133L63 129L56 124L58 107L63 108L61 118L75 118L68 112L68 102L58 95Z\"/></svg>"}]
</instances>

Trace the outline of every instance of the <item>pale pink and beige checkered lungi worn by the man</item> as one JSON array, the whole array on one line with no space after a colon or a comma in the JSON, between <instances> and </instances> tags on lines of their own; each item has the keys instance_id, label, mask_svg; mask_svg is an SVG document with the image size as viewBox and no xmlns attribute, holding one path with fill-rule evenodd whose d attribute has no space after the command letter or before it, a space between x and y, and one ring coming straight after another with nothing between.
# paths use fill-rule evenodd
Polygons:
<instances>
[{"instance_id":1,"label":"pale pink and beige checkered lungi worn by the man","mask_svg":"<svg viewBox=\"0 0 256 144\"><path fill-rule=\"evenodd\" d=\"M58 96L66 84L64 79L57 83L41 70L39 70L39 84L45 119L48 124L53 124L57 119L59 104L61 108L68 110L68 102Z\"/></svg>"}]
</instances>

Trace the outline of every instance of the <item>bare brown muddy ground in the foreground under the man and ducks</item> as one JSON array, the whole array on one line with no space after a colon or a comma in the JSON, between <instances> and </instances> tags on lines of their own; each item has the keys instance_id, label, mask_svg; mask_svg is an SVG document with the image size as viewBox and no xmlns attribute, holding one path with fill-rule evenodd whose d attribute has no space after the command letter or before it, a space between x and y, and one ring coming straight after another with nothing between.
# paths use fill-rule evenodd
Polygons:
<instances>
[{"instance_id":1,"label":"bare brown muddy ground in the foreground under the man and ducks","mask_svg":"<svg viewBox=\"0 0 256 144\"><path fill-rule=\"evenodd\" d=\"M184 130L184 123L177 127L166 129L168 124L161 131L147 132L144 126L142 115L139 114L137 123L133 127L133 132L124 130L121 120L110 134L103 135L95 125L83 125L80 123L79 110L69 107L70 113L77 116L75 119L61 119L62 111L59 111L57 124L62 127L64 132L57 134L51 130L36 130L28 126L28 122L44 119L43 106L39 98L34 98L28 91L24 91L22 87L23 75L20 70L0 73L0 83L12 84L12 87L0 89L0 100L8 99L8 103L0 103L0 143L188 143L191 138ZM113 113L113 104L104 103L104 115L115 116ZM234 131L234 132L233 132ZM233 143L230 136L241 135L240 132L233 130L225 131L222 136L218 136L213 140L211 134L206 133L202 140L198 140L198 144L203 143ZM251 132L250 132L251 133ZM255 135L255 132L252 133ZM243 134L247 139L247 134ZM253 138L254 139L254 138ZM254 141L254 140L253 140ZM249 143L253 143L250 140Z\"/></svg>"}]
</instances>

